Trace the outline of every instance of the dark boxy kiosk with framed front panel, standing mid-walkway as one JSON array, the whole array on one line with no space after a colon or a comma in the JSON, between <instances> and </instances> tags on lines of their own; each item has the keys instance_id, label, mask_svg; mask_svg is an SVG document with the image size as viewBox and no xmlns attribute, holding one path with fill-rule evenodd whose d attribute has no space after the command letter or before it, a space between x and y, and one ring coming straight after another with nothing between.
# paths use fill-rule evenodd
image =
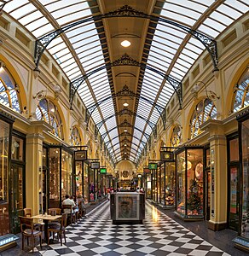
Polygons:
<instances>
[{"instance_id":1,"label":"dark boxy kiosk with framed front panel, standing mid-walkway","mask_svg":"<svg viewBox=\"0 0 249 256\"><path fill-rule=\"evenodd\" d=\"M130 191L112 193L110 208L113 224L142 224L145 218L144 194Z\"/></svg>"}]
</instances>

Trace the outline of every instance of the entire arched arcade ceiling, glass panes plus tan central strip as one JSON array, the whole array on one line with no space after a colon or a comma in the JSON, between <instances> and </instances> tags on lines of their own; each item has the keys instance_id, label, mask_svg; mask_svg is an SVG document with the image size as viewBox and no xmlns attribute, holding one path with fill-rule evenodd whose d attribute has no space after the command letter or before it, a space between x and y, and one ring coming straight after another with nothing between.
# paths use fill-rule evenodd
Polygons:
<instances>
[{"instance_id":1,"label":"entire arched arcade ceiling, glass panes plus tan central strip","mask_svg":"<svg viewBox=\"0 0 249 256\"><path fill-rule=\"evenodd\" d=\"M0 5L3 12L35 38L68 27L49 43L47 50L69 81L84 77L77 85L78 95L87 109L93 106L97 109L88 113L95 124L106 120L99 127L101 141L109 148L114 163L124 157L121 141L125 132L127 137L128 134L132 137L129 159L133 162L141 159L142 149L150 145L152 130L148 124L157 124L162 117L156 106L165 108L174 92L177 96L182 94L182 90L171 88L167 78L181 83L206 49L201 40L190 33L209 35L208 38L215 40L235 20L246 15L249 8L246 0L135 0L130 1L130 7L125 10L126 2L9 0ZM129 13L126 17L125 13L121 14L122 8ZM137 19L139 15L143 18ZM78 24L70 27L74 22ZM130 47L120 45L123 39L130 40ZM125 54L138 60L139 67L111 67L111 63ZM211 65L211 61L207 65ZM115 96L125 84L136 97ZM103 99L107 100L99 104ZM129 103L130 111L136 115L116 115L124 103ZM111 116L113 118L109 118Z\"/></svg>"}]
</instances>

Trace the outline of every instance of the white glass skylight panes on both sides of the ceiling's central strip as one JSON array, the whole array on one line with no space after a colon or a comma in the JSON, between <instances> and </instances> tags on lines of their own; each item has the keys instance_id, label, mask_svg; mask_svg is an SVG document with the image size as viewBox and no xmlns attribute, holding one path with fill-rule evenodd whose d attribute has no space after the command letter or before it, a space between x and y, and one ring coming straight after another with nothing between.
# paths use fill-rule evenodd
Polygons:
<instances>
[{"instance_id":1,"label":"white glass skylight panes on both sides of the ceiling's central strip","mask_svg":"<svg viewBox=\"0 0 249 256\"><path fill-rule=\"evenodd\" d=\"M100 1L106 3L106 1ZM116 1L120 7L125 1ZM135 1L136 2L136 1ZM4 3L4 2L3 2ZM32 32L36 38L41 38L49 32L72 22L83 20L96 12L96 1L83 0L10 0L5 1L3 11L9 13L21 25ZM223 30L231 25L241 15L248 12L247 0L158 0L153 6L153 14L167 20L175 21L183 26L198 30L211 38L216 38ZM94 9L94 11L92 11ZM114 9L112 9L114 10ZM101 38L101 40L100 40ZM188 33L176 26L159 21L154 24L150 21L147 38L142 46L143 57L146 64L166 75L182 81L194 61L205 49L204 45L195 38L188 37ZM96 24L89 21L67 30L55 38L47 48L61 66L68 79L73 81L85 73L103 66L107 60L103 50L107 50L105 29L101 22ZM117 91L116 91L117 92ZM165 108L174 90L163 77L146 69L142 79L140 95ZM78 88L86 108L96 102L111 96L111 88L107 77L107 70L94 73ZM123 145L119 143L119 130L117 118L108 119L115 113L113 99L110 98L92 114L96 124L102 119L107 121L101 125L100 133L108 143L109 153L114 162L123 159L121 154ZM146 122L145 120L148 120ZM130 160L136 162L142 152L147 138L145 134L152 133L152 125L159 120L159 112L148 102L139 100L136 108L132 144L130 145ZM149 124L150 125L149 125ZM136 129L137 128L137 129ZM126 150L126 149L125 149ZM127 155L127 154L125 154Z\"/></svg>"}]
</instances>

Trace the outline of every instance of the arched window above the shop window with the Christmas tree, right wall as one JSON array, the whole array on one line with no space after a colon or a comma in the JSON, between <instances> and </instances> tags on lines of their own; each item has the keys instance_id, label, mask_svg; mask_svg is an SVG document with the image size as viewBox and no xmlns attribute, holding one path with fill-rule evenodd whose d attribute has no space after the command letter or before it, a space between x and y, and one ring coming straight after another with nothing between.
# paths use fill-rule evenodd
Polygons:
<instances>
[{"instance_id":1,"label":"arched window above the shop window with the Christmas tree, right wall","mask_svg":"<svg viewBox=\"0 0 249 256\"><path fill-rule=\"evenodd\" d=\"M194 113L190 120L191 138L199 135L200 125L204 124L208 119L217 119L217 108L210 99L204 99L194 108Z\"/></svg>"}]
</instances>

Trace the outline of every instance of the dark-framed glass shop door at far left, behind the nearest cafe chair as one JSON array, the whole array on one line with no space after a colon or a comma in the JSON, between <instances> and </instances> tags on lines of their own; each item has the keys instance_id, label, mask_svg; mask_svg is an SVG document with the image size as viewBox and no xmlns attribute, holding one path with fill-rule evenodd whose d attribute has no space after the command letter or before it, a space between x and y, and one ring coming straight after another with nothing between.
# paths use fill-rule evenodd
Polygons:
<instances>
[{"instance_id":1,"label":"dark-framed glass shop door at far left, behind the nearest cafe chair","mask_svg":"<svg viewBox=\"0 0 249 256\"><path fill-rule=\"evenodd\" d=\"M20 232L19 215L23 212L23 166L12 164L10 169L11 226L14 234Z\"/></svg>"}]
</instances>

